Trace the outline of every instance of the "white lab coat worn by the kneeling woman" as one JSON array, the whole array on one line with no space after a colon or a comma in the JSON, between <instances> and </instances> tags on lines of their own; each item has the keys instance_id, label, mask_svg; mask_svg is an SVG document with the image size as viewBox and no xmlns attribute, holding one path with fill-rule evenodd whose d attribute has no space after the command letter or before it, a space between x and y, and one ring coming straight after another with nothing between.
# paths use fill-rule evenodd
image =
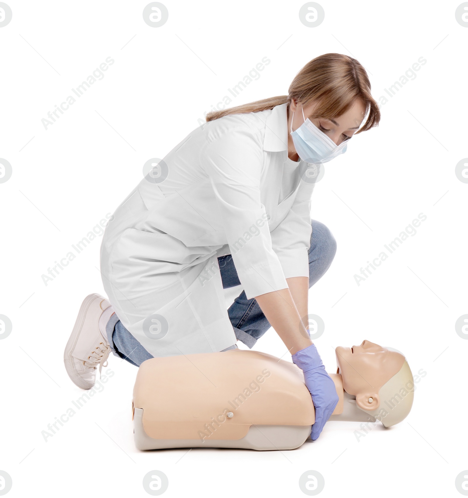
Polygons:
<instances>
[{"instance_id":1,"label":"white lab coat worn by the kneeling woman","mask_svg":"<svg viewBox=\"0 0 468 498\"><path fill-rule=\"evenodd\" d=\"M287 138L287 104L208 122L163 158L163 181L147 176L115 211L101 246L104 288L153 356L235 344L218 256L232 254L248 299L309 276L314 183L303 173L312 165L283 178ZM148 335L153 314L167 330Z\"/></svg>"}]
</instances>

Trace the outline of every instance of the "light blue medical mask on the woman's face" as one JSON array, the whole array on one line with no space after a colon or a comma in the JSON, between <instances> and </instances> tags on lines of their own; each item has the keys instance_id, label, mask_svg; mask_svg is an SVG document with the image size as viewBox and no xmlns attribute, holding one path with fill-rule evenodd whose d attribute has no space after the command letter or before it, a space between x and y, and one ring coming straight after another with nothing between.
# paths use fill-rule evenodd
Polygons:
<instances>
[{"instance_id":1,"label":"light blue medical mask on the woman's face","mask_svg":"<svg viewBox=\"0 0 468 498\"><path fill-rule=\"evenodd\" d=\"M293 131L293 118L291 119L291 136L293 137L294 146L299 157L306 162L318 163L327 162L340 154L346 152L348 140L346 139L339 145L323 131L318 129L312 121L304 116L304 123L298 129Z\"/></svg>"}]
</instances>

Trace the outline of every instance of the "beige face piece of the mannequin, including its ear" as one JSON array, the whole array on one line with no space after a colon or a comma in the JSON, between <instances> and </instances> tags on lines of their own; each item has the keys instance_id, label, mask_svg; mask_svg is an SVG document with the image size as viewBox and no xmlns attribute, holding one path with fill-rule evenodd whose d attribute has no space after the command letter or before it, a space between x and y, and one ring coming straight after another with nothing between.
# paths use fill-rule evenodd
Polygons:
<instances>
[{"instance_id":1,"label":"beige face piece of the mannequin, including its ear","mask_svg":"<svg viewBox=\"0 0 468 498\"><path fill-rule=\"evenodd\" d=\"M403 366L405 357L370 341L359 346L335 349L337 373L343 379L344 390L356 396L363 410L375 410L380 404L379 390Z\"/></svg>"}]
</instances>

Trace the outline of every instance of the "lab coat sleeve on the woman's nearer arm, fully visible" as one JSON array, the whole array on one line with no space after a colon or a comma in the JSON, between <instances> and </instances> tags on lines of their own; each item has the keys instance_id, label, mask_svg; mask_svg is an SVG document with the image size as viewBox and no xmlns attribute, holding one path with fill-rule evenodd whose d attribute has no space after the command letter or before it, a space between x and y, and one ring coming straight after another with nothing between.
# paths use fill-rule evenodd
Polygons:
<instances>
[{"instance_id":1,"label":"lab coat sleeve on the woman's nearer arm, fully visible","mask_svg":"<svg viewBox=\"0 0 468 498\"><path fill-rule=\"evenodd\" d=\"M288 288L272 248L268 215L260 201L260 131L238 127L212 138L200 153L200 163L210 178L247 299Z\"/></svg>"}]
</instances>

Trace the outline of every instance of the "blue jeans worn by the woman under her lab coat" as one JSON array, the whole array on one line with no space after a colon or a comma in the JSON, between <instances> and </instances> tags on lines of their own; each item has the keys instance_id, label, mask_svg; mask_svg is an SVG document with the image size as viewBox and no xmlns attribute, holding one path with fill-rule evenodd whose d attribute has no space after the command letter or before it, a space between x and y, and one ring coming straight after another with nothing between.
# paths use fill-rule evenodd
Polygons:
<instances>
[{"instance_id":1,"label":"blue jeans worn by the woman under her lab coat","mask_svg":"<svg viewBox=\"0 0 468 498\"><path fill-rule=\"evenodd\" d=\"M309 248L309 287L329 268L336 252L336 241L325 225L312 220L311 247ZM223 288L240 285L231 254L218 257ZM236 297L228 309L234 333L239 341L252 348L271 327L255 298L247 299L245 292ZM109 344L114 355L124 358L139 367L145 360L153 358L148 351L122 325L114 313L106 327ZM233 345L230 348L235 348ZM223 350L225 351L225 350Z\"/></svg>"}]
</instances>

